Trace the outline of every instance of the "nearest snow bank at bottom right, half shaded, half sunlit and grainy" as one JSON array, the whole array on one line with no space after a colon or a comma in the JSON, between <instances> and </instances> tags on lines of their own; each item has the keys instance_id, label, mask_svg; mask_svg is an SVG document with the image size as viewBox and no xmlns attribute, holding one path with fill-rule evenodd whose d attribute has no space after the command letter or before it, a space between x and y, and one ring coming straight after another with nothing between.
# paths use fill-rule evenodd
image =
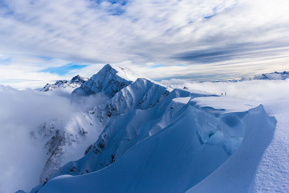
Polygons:
<instances>
[{"instance_id":1,"label":"nearest snow bank at bottom right, half shaded, half sunlit and grainy","mask_svg":"<svg viewBox=\"0 0 289 193\"><path fill-rule=\"evenodd\" d=\"M241 147L188 192L288 192L288 104L276 101L265 103L265 111L262 106L252 109L255 119L249 122Z\"/></svg>"}]
</instances>

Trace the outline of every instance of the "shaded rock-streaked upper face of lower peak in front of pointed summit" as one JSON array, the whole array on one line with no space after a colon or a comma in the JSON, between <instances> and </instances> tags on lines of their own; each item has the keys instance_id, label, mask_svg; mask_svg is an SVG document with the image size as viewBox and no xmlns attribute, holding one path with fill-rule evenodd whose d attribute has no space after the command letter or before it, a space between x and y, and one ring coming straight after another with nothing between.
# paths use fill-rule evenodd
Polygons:
<instances>
[{"instance_id":1,"label":"shaded rock-streaked upper face of lower peak in front of pointed summit","mask_svg":"<svg viewBox=\"0 0 289 193\"><path fill-rule=\"evenodd\" d=\"M111 116L155 106L164 100L171 90L154 81L139 78L133 84L121 89L105 104L94 107L89 114L106 124Z\"/></svg>"}]
</instances>

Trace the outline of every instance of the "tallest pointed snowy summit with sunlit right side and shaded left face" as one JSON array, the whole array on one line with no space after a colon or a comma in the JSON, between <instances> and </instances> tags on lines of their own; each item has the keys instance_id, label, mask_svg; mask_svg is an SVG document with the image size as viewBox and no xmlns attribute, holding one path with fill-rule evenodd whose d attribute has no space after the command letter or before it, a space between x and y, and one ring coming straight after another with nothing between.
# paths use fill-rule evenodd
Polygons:
<instances>
[{"instance_id":1,"label":"tallest pointed snowy summit with sunlit right side and shaded left face","mask_svg":"<svg viewBox=\"0 0 289 193\"><path fill-rule=\"evenodd\" d=\"M113 97L115 93L136 81L138 78L146 78L128 68L105 65L97 74L75 89L73 93L78 95L89 95L103 91L108 96Z\"/></svg>"}]
</instances>

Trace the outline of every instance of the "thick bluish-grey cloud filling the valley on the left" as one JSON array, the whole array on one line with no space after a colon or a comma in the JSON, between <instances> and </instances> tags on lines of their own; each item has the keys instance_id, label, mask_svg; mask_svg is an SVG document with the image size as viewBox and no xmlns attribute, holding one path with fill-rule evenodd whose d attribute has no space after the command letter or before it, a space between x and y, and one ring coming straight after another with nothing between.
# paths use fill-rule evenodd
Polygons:
<instances>
[{"instance_id":1,"label":"thick bluish-grey cloud filling the valley on the left","mask_svg":"<svg viewBox=\"0 0 289 193\"><path fill-rule=\"evenodd\" d=\"M75 97L72 90L44 93L0 85L0 192L30 191L39 183L46 152L31 139L33 129L53 117L67 121L108 100L102 93Z\"/></svg>"}]
</instances>

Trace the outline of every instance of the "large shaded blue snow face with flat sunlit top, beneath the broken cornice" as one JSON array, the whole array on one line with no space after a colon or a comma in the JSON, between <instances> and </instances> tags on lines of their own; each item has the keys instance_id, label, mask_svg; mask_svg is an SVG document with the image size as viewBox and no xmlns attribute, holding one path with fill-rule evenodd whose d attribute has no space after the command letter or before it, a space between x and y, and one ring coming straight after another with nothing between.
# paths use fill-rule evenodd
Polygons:
<instances>
[{"instance_id":1,"label":"large shaded blue snow face with flat sunlit top, beneath the broken cornice","mask_svg":"<svg viewBox=\"0 0 289 193\"><path fill-rule=\"evenodd\" d=\"M181 97L170 99L171 93ZM259 105L205 92L171 93L152 108L116 116L86 156L67 163L40 192L185 192L240 147L248 110Z\"/></svg>"}]
</instances>

